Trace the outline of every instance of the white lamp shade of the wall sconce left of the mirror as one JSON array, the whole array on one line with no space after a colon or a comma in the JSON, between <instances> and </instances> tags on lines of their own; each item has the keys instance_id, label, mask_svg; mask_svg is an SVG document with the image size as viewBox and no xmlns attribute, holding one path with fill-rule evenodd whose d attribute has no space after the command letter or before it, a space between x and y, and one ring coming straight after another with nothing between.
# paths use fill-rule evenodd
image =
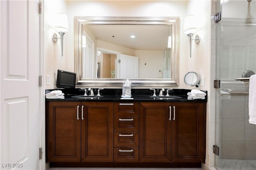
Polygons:
<instances>
[{"instance_id":1,"label":"white lamp shade of the wall sconce left of the mirror","mask_svg":"<svg viewBox=\"0 0 256 170\"><path fill-rule=\"evenodd\" d=\"M68 32L68 16L62 13L56 14L55 30L58 32Z\"/></svg>"}]
</instances>

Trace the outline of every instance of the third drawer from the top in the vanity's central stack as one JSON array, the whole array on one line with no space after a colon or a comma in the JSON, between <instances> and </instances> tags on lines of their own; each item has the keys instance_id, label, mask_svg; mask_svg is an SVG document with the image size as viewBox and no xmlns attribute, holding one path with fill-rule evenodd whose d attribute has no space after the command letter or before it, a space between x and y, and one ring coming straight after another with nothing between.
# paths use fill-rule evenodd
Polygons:
<instances>
[{"instance_id":1,"label":"third drawer from the top in the vanity's central stack","mask_svg":"<svg viewBox=\"0 0 256 170\"><path fill-rule=\"evenodd\" d=\"M139 133L138 132L115 132L114 147L138 147Z\"/></svg>"}]
</instances>

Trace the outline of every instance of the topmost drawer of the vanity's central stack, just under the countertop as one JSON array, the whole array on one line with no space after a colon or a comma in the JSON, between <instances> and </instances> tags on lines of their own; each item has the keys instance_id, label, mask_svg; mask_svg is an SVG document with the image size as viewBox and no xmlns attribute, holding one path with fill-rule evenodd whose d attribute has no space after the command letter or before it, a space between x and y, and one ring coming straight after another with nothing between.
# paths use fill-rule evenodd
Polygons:
<instances>
[{"instance_id":1,"label":"topmost drawer of the vanity's central stack, just under the countertop","mask_svg":"<svg viewBox=\"0 0 256 170\"><path fill-rule=\"evenodd\" d=\"M139 116L139 103L138 102L115 102L114 103L114 116Z\"/></svg>"}]
</instances>

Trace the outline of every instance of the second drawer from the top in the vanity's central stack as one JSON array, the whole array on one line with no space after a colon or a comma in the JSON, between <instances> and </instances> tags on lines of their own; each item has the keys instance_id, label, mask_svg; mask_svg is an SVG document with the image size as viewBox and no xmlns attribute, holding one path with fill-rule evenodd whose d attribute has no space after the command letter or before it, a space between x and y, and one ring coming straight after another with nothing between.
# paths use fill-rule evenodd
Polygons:
<instances>
[{"instance_id":1,"label":"second drawer from the top in the vanity's central stack","mask_svg":"<svg viewBox=\"0 0 256 170\"><path fill-rule=\"evenodd\" d=\"M138 117L114 117L114 132L138 132Z\"/></svg>"}]
</instances>

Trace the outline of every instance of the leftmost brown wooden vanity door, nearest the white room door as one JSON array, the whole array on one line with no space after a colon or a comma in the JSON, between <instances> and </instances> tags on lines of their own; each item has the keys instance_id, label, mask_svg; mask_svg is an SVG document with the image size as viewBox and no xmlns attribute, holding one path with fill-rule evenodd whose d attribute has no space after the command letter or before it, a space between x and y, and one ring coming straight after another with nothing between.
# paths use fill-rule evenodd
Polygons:
<instances>
[{"instance_id":1,"label":"leftmost brown wooden vanity door, nearest the white room door","mask_svg":"<svg viewBox=\"0 0 256 170\"><path fill-rule=\"evenodd\" d=\"M49 102L49 162L80 162L81 121L79 107L80 102Z\"/></svg>"}]
</instances>

